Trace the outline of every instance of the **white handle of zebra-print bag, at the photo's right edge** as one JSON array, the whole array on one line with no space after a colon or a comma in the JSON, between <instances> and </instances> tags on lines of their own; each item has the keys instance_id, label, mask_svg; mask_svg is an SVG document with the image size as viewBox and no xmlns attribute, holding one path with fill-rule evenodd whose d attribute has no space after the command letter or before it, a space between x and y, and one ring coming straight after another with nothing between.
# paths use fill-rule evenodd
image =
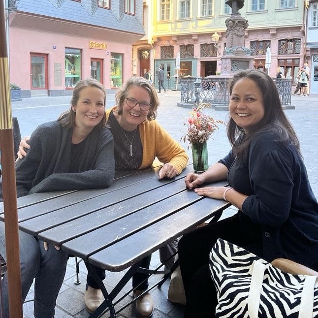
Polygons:
<instances>
[{"instance_id":1,"label":"white handle of zebra-print bag, at the photo's right edge","mask_svg":"<svg viewBox=\"0 0 318 318\"><path fill-rule=\"evenodd\" d=\"M314 291L317 280L318 276L306 276L303 290L301 292L298 318L313 317Z\"/></svg>"}]
</instances>

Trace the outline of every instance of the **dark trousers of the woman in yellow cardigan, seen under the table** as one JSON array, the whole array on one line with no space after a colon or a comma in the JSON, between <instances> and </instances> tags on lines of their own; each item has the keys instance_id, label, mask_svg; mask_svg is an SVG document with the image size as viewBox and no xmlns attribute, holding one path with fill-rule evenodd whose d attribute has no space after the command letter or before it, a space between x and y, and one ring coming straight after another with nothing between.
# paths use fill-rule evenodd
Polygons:
<instances>
[{"instance_id":1,"label":"dark trousers of the woman in yellow cardigan, seen under the table","mask_svg":"<svg viewBox=\"0 0 318 318\"><path fill-rule=\"evenodd\" d=\"M151 260L151 255L143 258L140 267L149 268ZM95 268L96 274L103 281L106 277L105 270L99 267L92 265ZM143 282L145 280L145 282ZM99 289L98 284L96 283L94 277L91 274L87 274L86 282L88 286ZM138 286L140 284L140 286ZM138 290L145 290L149 286L148 284L148 275L143 273L135 273L132 276L132 287Z\"/></svg>"}]
</instances>

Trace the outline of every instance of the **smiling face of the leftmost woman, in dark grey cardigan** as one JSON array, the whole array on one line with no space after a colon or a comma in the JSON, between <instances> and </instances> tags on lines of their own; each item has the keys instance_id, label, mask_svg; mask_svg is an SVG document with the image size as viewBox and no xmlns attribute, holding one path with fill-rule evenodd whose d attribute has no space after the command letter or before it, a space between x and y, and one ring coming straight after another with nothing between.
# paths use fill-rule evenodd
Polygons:
<instances>
[{"instance_id":1,"label":"smiling face of the leftmost woman, in dark grey cardigan","mask_svg":"<svg viewBox=\"0 0 318 318\"><path fill-rule=\"evenodd\" d=\"M83 88L72 110L75 112L75 127L82 132L91 132L105 114L105 94L94 86Z\"/></svg>"}]
</instances>

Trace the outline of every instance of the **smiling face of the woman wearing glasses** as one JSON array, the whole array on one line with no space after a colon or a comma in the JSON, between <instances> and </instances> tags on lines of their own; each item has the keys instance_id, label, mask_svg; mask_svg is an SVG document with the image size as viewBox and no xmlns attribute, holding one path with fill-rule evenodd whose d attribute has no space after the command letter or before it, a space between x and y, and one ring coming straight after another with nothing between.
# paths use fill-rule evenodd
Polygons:
<instances>
[{"instance_id":1,"label":"smiling face of the woman wearing glasses","mask_svg":"<svg viewBox=\"0 0 318 318\"><path fill-rule=\"evenodd\" d=\"M145 101L147 103L151 103L148 91L138 86L131 86L131 88L127 91L126 98L133 98L138 102ZM150 109L143 111L140 109L139 104L136 104L135 107L131 108L127 106L126 98L123 101L123 114L118 116L117 120L125 130L132 131L146 120Z\"/></svg>"}]
</instances>

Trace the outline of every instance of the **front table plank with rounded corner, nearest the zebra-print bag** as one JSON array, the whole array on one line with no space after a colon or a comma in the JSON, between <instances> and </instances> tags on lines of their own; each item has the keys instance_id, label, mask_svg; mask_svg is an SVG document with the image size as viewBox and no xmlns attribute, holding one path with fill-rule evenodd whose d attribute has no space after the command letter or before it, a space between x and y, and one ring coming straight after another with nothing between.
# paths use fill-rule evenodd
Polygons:
<instances>
[{"instance_id":1,"label":"front table plank with rounded corner, nearest the zebra-print bag","mask_svg":"<svg viewBox=\"0 0 318 318\"><path fill-rule=\"evenodd\" d=\"M109 271L122 271L146 255L158 250L167 242L180 237L198 224L211 218L213 213L230 204L223 200L205 198L135 232L125 240L118 241L89 257L89 262ZM155 233L155 235L154 235ZM68 244L68 243L67 243Z\"/></svg>"}]
</instances>

